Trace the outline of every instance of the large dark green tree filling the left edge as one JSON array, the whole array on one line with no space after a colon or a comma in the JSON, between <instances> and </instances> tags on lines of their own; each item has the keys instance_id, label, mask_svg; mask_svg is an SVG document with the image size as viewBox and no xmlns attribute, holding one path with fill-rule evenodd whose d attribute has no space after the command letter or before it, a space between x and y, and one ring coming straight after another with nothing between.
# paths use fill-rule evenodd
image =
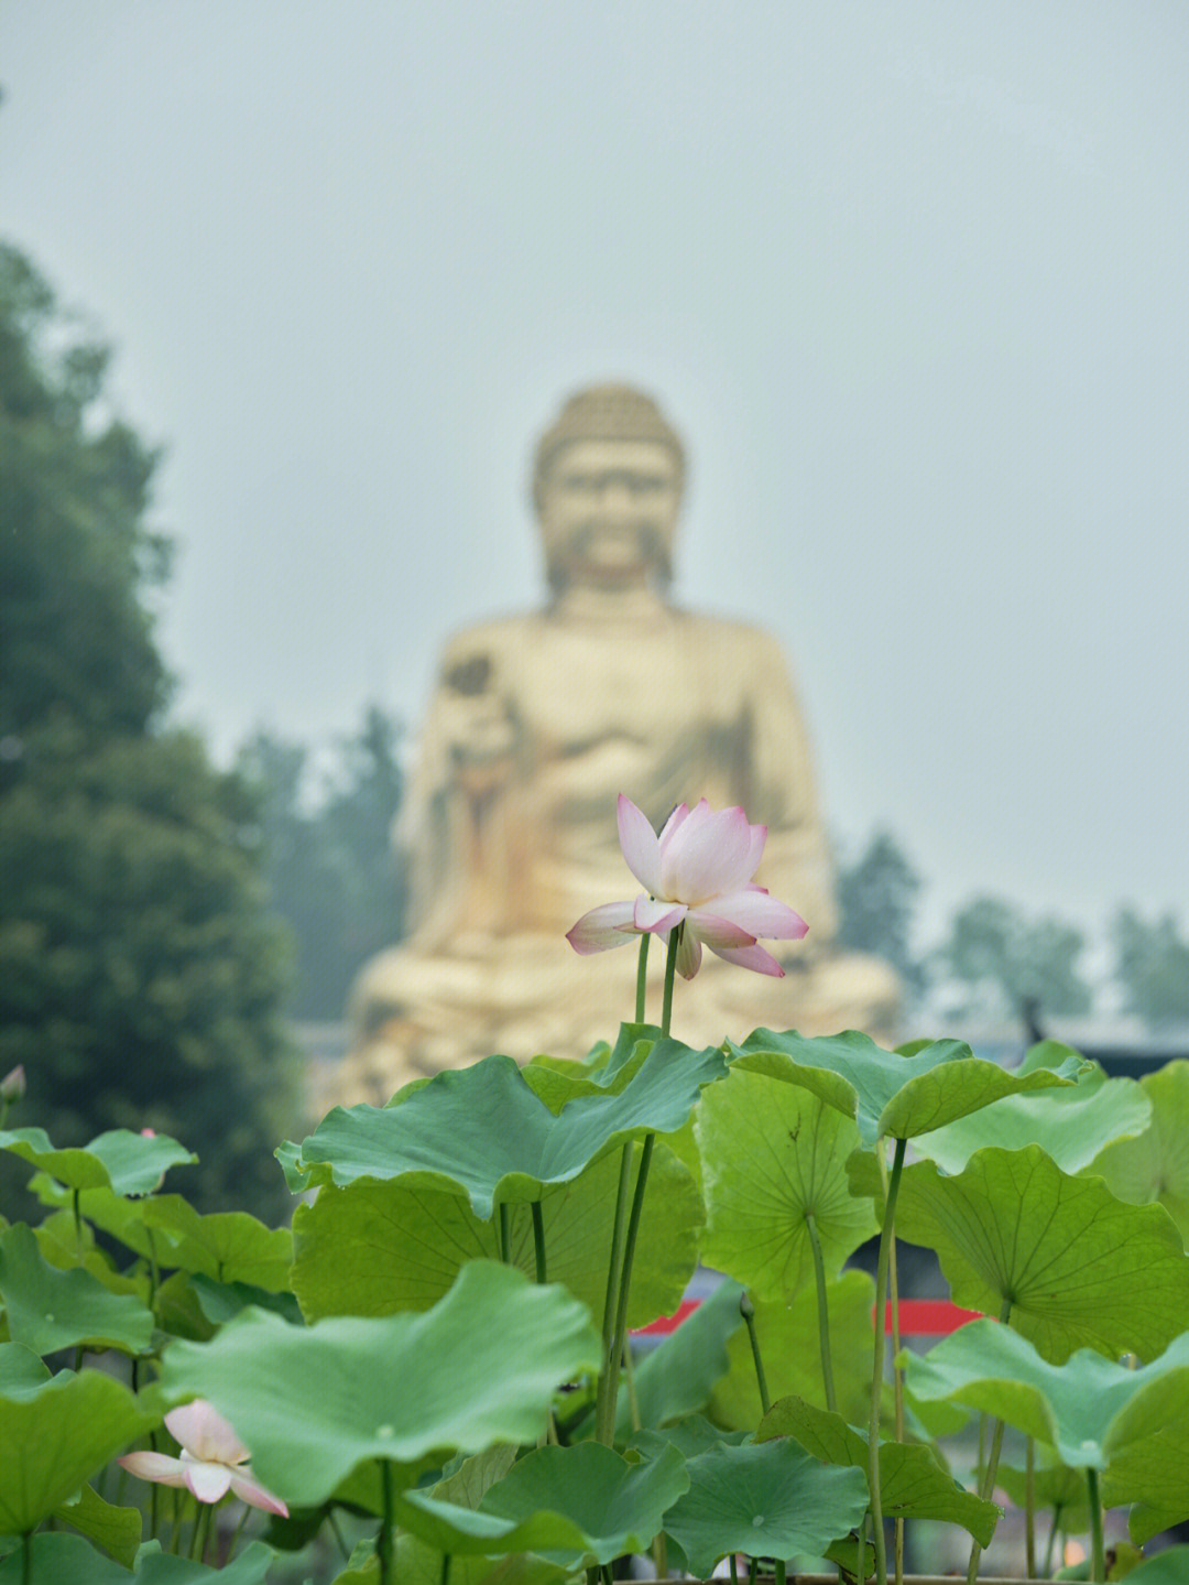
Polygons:
<instances>
[{"instance_id":1,"label":"large dark green tree filling the left edge","mask_svg":"<svg viewBox=\"0 0 1189 1585\"><path fill-rule=\"evenodd\" d=\"M163 723L149 596L155 453L106 415L106 353L70 344L0 247L0 1073L57 1144L173 1133L207 1209L279 1213L299 1124L253 797Z\"/></svg>"}]
</instances>

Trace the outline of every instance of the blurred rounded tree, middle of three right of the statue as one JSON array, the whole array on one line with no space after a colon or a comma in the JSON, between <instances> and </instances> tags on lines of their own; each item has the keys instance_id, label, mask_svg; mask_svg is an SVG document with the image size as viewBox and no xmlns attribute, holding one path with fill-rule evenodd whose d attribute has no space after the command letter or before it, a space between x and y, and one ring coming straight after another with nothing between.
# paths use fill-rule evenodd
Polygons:
<instances>
[{"instance_id":1,"label":"blurred rounded tree, middle of three right of the statue","mask_svg":"<svg viewBox=\"0 0 1189 1585\"><path fill-rule=\"evenodd\" d=\"M950 922L937 954L944 973L971 1000L997 994L1012 1011L1031 1005L1050 1013L1088 1013L1092 994L1078 972L1081 932L1054 915L1028 919L1002 897L974 897Z\"/></svg>"}]
</instances>

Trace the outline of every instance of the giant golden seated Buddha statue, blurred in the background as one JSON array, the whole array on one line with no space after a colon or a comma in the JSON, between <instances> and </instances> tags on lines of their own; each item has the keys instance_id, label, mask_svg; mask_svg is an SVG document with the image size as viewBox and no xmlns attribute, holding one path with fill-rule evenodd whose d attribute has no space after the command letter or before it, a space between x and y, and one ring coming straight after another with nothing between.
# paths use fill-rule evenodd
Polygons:
<instances>
[{"instance_id":1,"label":"giant golden seated Buddha statue, blurred in the background","mask_svg":"<svg viewBox=\"0 0 1189 1585\"><path fill-rule=\"evenodd\" d=\"M578 393L543 436L549 598L446 645L397 826L412 930L356 981L336 1098L383 1102L491 1051L576 1057L614 1038L633 1016L635 953L579 959L565 932L630 889L619 792L657 826L679 802L741 804L768 824L757 880L809 922L779 943L782 980L706 959L678 987L674 1035L890 1032L896 975L836 941L830 845L777 644L668 599L684 472L657 404L624 385Z\"/></svg>"}]
</instances>

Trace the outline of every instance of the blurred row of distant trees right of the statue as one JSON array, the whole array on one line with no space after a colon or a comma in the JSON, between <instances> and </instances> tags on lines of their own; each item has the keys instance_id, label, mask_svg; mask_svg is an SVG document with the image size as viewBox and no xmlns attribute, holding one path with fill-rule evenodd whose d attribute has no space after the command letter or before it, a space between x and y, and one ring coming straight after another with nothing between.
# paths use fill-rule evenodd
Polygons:
<instances>
[{"instance_id":1,"label":"blurred row of distant trees right of the statue","mask_svg":"<svg viewBox=\"0 0 1189 1585\"><path fill-rule=\"evenodd\" d=\"M940 941L918 948L921 880L887 831L839 875L842 940L899 970L910 1003L955 1018L1073 1016L1107 1008L1151 1032L1189 1025L1189 940L1172 913L1154 919L1121 905L1110 924L1110 965L1089 978L1089 938L1054 913L1029 915L991 894L966 902Z\"/></svg>"}]
</instances>

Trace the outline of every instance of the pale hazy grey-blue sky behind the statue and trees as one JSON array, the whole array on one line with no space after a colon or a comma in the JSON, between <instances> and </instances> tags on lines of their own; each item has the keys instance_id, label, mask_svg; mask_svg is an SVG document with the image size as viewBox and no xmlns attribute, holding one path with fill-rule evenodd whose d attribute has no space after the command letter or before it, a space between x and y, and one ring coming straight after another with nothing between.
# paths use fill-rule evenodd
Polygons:
<instances>
[{"instance_id":1,"label":"pale hazy grey-blue sky behind the statue and trees","mask_svg":"<svg viewBox=\"0 0 1189 1585\"><path fill-rule=\"evenodd\" d=\"M413 726L540 601L532 442L621 377L834 831L937 916L1184 918L1184 0L8 0L0 78L0 235L168 447L222 758Z\"/></svg>"}]
</instances>

